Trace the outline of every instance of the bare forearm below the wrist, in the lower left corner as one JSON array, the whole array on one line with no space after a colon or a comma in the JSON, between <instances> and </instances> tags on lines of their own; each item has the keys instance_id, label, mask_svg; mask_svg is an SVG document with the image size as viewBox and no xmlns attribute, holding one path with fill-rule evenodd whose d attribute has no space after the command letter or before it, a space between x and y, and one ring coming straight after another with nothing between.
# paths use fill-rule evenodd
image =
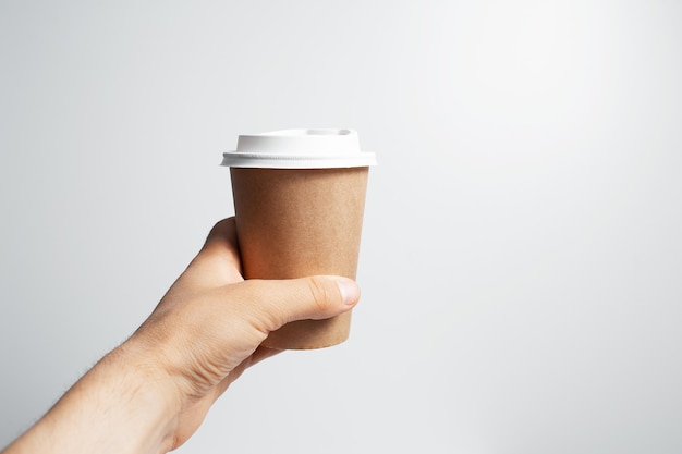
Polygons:
<instances>
[{"instance_id":1,"label":"bare forearm below the wrist, in the lower left corner","mask_svg":"<svg viewBox=\"0 0 682 454\"><path fill-rule=\"evenodd\" d=\"M107 355L3 454L171 450L176 394L134 351L124 344Z\"/></svg>"}]
</instances>

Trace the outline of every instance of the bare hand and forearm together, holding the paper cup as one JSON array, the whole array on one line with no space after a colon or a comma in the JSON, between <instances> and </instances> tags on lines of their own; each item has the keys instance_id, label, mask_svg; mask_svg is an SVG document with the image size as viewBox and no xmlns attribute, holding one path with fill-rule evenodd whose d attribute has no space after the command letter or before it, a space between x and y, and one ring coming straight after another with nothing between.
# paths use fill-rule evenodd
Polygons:
<instances>
[{"instance_id":1,"label":"bare hand and forearm together, holding the paper cup","mask_svg":"<svg viewBox=\"0 0 682 454\"><path fill-rule=\"evenodd\" d=\"M135 333L0 454L172 451L246 368L279 353L259 346L270 331L358 299L340 277L244 281L226 219Z\"/></svg>"}]
</instances>

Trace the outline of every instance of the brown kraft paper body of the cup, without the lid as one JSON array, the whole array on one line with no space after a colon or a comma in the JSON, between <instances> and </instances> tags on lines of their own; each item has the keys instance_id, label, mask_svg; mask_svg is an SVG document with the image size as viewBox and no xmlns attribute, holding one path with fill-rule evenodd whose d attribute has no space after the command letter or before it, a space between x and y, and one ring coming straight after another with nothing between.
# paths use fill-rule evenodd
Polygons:
<instances>
[{"instance_id":1,"label":"brown kraft paper body of the cup, without the lid","mask_svg":"<svg viewBox=\"0 0 682 454\"><path fill-rule=\"evenodd\" d=\"M337 274L355 279L368 167L230 169L245 279ZM349 338L351 312L285 324L264 341L322 348Z\"/></svg>"}]
</instances>

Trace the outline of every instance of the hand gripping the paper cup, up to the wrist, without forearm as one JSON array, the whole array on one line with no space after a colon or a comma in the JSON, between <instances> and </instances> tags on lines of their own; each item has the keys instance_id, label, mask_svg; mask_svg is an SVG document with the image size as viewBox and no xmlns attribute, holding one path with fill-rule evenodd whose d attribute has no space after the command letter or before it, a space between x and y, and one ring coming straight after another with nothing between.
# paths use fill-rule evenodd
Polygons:
<instances>
[{"instance_id":1,"label":"hand gripping the paper cup, up to the wrist, without forearm","mask_svg":"<svg viewBox=\"0 0 682 454\"><path fill-rule=\"evenodd\" d=\"M279 351L259 346L283 324L351 309L357 285L339 277L249 280L241 274L234 218L206 244L131 342L143 344L175 383L183 410L175 444L198 428L210 405L247 367Z\"/></svg>"}]
</instances>

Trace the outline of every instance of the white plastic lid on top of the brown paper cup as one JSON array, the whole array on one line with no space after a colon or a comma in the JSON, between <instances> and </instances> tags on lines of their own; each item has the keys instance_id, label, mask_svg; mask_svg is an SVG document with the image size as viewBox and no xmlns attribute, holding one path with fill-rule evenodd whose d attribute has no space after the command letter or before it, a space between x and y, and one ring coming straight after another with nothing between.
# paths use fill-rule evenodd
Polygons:
<instances>
[{"instance_id":1,"label":"white plastic lid on top of the brown paper cup","mask_svg":"<svg viewBox=\"0 0 682 454\"><path fill-rule=\"evenodd\" d=\"M360 149L353 130L284 130L241 135L221 165L267 169L328 169L376 165L374 152Z\"/></svg>"}]
</instances>

